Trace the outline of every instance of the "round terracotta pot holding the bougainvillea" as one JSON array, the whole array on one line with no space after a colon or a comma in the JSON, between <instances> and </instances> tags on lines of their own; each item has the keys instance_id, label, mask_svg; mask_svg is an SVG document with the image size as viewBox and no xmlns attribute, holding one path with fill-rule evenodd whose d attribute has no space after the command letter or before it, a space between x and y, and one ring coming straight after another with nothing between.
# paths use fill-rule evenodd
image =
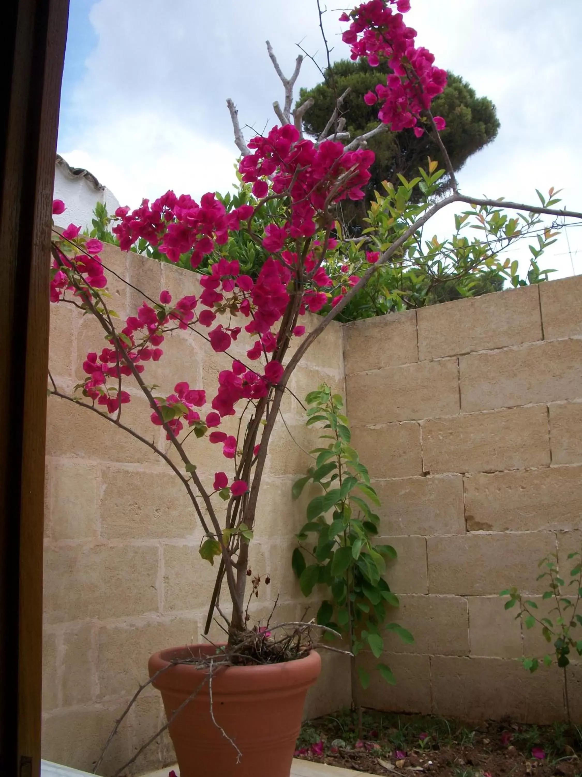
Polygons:
<instances>
[{"instance_id":1,"label":"round terracotta pot holding the bougainvillea","mask_svg":"<svg viewBox=\"0 0 582 777\"><path fill-rule=\"evenodd\" d=\"M161 650L150 658L150 677L172 658L191 657L192 653L209 656L214 650L212 645ZM214 718L237 744L242 757L237 763L237 752L212 721L206 679L169 727L180 777L289 777L307 688L320 671L321 659L314 650L286 664L215 671ZM154 680L168 720L207 676L207 671L190 664L176 664Z\"/></svg>"}]
</instances>

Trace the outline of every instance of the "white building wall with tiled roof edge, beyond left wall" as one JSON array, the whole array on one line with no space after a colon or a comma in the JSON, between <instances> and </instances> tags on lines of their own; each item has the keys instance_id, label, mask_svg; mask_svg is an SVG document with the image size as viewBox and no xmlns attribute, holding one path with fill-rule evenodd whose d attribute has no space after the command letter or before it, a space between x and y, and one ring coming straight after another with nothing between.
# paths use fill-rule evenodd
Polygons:
<instances>
[{"instance_id":1,"label":"white building wall with tiled roof edge, beyond left wall","mask_svg":"<svg viewBox=\"0 0 582 777\"><path fill-rule=\"evenodd\" d=\"M91 221L95 204L102 202L111 215L120 206L113 192L106 186L95 186L90 174L74 174L71 168L64 162L57 161L54 171L54 195L55 200L63 200L67 207L64 213L54 216L54 223L58 227L68 227L69 224L81 225L83 229L92 228Z\"/></svg>"}]
</instances>

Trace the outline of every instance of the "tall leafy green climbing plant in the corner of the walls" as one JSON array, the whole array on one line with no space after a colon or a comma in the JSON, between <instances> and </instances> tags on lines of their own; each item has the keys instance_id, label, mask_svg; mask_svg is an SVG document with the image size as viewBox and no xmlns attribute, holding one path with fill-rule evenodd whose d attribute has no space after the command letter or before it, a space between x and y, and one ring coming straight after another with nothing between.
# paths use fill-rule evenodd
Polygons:
<instances>
[{"instance_id":1,"label":"tall leafy green climbing plant in the corner of the walls","mask_svg":"<svg viewBox=\"0 0 582 777\"><path fill-rule=\"evenodd\" d=\"M406 643L414 642L411 632L397 623L387 623L386 606L397 608L396 594L384 580L386 560L396 559L392 545L376 544L379 516L372 506L379 505L370 485L369 472L352 448L348 419L341 412L341 395L327 385L310 392L305 399L307 426L321 424L324 446L310 451L317 458L307 475L293 485L293 498L300 497L307 483L320 486L323 493L307 505L307 523L297 535L299 547L293 551L293 570L301 591L309 596L317 584L327 586L328 598L321 603L317 622L337 630L347 639L354 679L363 688L369 673L356 667L355 656L370 650L376 659L384 652L384 632L396 633ZM383 661L376 669L386 682L396 680Z\"/></svg>"}]
</instances>

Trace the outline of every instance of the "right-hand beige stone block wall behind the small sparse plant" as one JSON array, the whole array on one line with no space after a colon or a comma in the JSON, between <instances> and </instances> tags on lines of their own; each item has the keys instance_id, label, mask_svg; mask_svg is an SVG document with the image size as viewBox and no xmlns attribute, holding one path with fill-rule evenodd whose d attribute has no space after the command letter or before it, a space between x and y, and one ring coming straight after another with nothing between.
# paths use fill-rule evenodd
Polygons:
<instances>
[{"instance_id":1,"label":"right-hand beige stone block wall behind the small sparse plant","mask_svg":"<svg viewBox=\"0 0 582 777\"><path fill-rule=\"evenodd\" d=\"M561 672L521 667L548 647L498 594L515 585L542 607L538 560L565 566L582 545L582 277L347 325L345 371L352 440L400 554L390 618L415 636L394 637L397 685L375 682L365 703L562 720ZM582 720L582 663L570 675Z\"/></svg>"}]
</instances>

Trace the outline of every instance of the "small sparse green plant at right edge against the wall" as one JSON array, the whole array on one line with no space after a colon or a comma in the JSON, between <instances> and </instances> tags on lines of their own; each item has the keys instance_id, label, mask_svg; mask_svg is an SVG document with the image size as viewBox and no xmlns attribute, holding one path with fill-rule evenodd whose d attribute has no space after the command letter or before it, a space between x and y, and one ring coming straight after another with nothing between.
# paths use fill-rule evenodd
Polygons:
<instances>
[{"instance_id":1,"label":"small sparse green plant at right edge against the wall","mask_svg":"<svg viewBox=\"0 0 582 777\"><path fill-rule=\"evenodd\" d=\"M570 570L570 581L567 584L561 577L556 553L549 553L538 564L539 569L545 571L539 573L537 580L547 579L549 581L548 590L542 594L542 600L553 601L556 605L545 617L540 617L539 607L535 601L525 599L515 587L507 588L499 595L509 597L508 601L505 602L506 610L518 606L518 615L515 617L521 618L526 629L533 629L536 624L539 625L546 642L552 644L553 656L546 653L542 658L524 658L522 662L525 669L533 673L538 669L540 663L549 667L553 660L556 660L558 666L563 670L566 715L568 723L571 725L566 669L570 664L571 653L576 652L582 656L582 632L578 634L574 632L574 629L582 626L582 615L577 611L580 601L582 601L582 554L578 551L569 553L567 560L573 564ZM577 639L578 636L580 639Z\"/></svg>"}]
</instances>

